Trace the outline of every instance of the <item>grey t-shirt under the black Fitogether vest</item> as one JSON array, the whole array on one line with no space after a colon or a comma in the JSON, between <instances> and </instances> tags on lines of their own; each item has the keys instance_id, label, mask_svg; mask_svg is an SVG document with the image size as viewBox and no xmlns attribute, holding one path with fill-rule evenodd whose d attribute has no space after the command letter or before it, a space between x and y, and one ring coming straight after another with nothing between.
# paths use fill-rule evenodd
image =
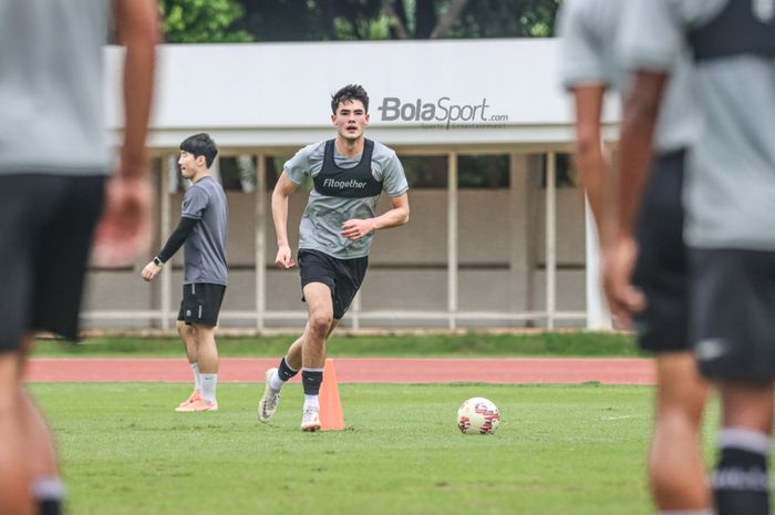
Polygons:
<instances>
[{"instance_id":1,"label":"grey t-shirt under the black Fitogether vest","mask_svg":"<svg viewBox=\"0 0 775 515\"><path fill-rule=\"evenodd\" d=\"M299 185L306 176L317 176L323 166L324 150L326 142L322 141L297 152L283 166L288 178ZM333 158L339 167L352 168L360 163L361 155L347 157L334 151ZM395 152L378 142L374 142L371 173L391 197L403 195L409 189ZM351 218L372 218L379 199L379 195L360 198L327 196L312 189L299 226L299 248L319 250L339 259L368 256L374 233L354 241L340 233L342 224Z\"/></svg>"}]
</instances>

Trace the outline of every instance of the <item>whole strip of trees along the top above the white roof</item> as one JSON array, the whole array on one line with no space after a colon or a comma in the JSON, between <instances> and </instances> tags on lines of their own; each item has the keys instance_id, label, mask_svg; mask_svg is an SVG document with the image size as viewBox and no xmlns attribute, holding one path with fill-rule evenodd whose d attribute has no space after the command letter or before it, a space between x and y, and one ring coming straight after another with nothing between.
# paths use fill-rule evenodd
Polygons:
<instances>
[{"instance_id":1,"label":"whole strip of trees along the top above the white roof","mask_svg":"<svg viewBox=\"0 0 775 515\"><path fill-rule=\"evenodd\" d=\"M536 38L561 0L161 0L167 41Z\"/></svg>"}]
</instances>

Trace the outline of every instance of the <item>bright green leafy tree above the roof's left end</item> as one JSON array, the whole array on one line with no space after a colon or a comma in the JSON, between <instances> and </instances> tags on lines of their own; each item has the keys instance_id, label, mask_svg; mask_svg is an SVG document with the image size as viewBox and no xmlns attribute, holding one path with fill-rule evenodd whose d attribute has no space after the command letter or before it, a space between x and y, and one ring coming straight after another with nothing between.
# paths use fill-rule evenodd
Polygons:
<instances>
[{"instance_id":1,"label":"bright green leafy tree above the roof's left end","mask_svg":"<svg viewBox=\"0 0 775 515\"><path fill-rule=\"evenodd\" d=\"M162 28L169 43L229 43L252 41L246 30L232 28L245 14L236 0L161 0Z\"/></svg>"}]
</instances>

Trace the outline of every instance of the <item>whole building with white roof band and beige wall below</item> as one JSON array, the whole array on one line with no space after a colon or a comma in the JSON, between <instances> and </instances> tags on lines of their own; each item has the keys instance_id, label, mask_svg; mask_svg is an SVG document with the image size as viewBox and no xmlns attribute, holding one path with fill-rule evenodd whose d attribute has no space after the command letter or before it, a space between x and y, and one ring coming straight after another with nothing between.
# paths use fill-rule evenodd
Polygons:
<instances>
[{"instance_id":1,"label":"whole building with white roof band and beige wall below","mask_svg":"<svg viewBox=\"0 0 775 515\"><path fill-rule=\"evenodd\" d=\"M551 39L162 45L149 145L156 155L164 155L192 133L207 131L227 154L292 152L333 135L331 93L344 84L360 83L371 97L371 138L403 152L519 153L515 154L512 177L516 183L510 190L459 192L457 302L464 311L541 311L546 302L546 271L541 268L545 190L536 179L537 162L528 154L570 148L572 113L559 86L557 53L558 41ZM122 123L121 59L121 49L106 49L106 125L114 136L118 136ZM448 97L448 103L458 105L486 100L489 114L508 120L450 130L427 128L414 121L383 121L379 106L385 97L425 103ZM604 120L613 124L617 116L613 105ZM411 198L410 225L375 238L374 266L362 291L363 310L447 309L447 272L443 268L447 260L447 192L417 189ZM231 271L225 310L255 309L256 279L250 269L255 262L255 195L229 194L228 254L237 268ZM298 217L304 203L302 195L291 197L291 240L298 238ZM172 205L174 224L179 196ZM269 216L266 213L265 220ZM271 265L273 230L268 225L266 260ZM577 190L558 190L557 228L557 308L583 311L585 220ZM158 247L162 241L156 244ZM148 286L138 279L145 264L141 261L123 272L92 272L86 309L157 310L159 285ZM386 267L395 264L410 266ZM296 274L270 267L266 280L268 310L303 312ZM180 272L175 271L174 309L179 284ZM156 322L114 323L147 327ZM298 326L287 320L271 323Z\"/></svg>"}]
</instances>

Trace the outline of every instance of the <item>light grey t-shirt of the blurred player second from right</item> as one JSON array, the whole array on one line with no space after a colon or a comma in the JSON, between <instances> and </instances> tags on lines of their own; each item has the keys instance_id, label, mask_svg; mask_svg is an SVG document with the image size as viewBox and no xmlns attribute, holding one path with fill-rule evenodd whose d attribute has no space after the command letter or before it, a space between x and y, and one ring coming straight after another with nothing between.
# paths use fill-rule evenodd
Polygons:
<instances>
[{"instance_id":1,"label":"light grey t-shirt of the blurred player second from right","mask_svg":"<svg viewBox=\"0 0 775 515\"><path fill-rule=\"evenodd\" d=\"M633 1L566 0L561 9L562 84L568 89L602 84L626 94L631 85L630 71L642 64L620 54L623 42L633 31L640 31ZM671 66L673 73L657 122L654 150L659 154L688 147L700 131L685 47L678 48Z\"/></svg>"}]
</instances>

